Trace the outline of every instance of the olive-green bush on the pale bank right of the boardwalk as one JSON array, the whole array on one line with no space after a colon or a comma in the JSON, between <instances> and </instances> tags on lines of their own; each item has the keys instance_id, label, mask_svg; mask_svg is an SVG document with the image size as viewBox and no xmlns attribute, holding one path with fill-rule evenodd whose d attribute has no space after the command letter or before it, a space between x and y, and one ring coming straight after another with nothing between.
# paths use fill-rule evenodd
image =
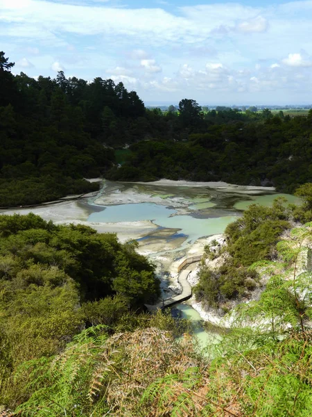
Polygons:
<instances>
[{"instance_id":1,"label":"olive-green bush on the pale bank right of the boardwalk","mask_svg":"<svg viewBox=\"0 0 312 417\"><path fill-rule=\"evenodd\" d=\"M275 199L271 208L259 204L249 206L241 218L225 229L225 251L230 257L218 270L201 268L196 299L216 307L227 300L240 300L252 291L259 276L248 267L254 262L271 259L279 236L290 227L287 219L291 215L291 208L280 198ZM206 252L208 250L209 247L205 248Z\"/></svg>"}]
</instances>

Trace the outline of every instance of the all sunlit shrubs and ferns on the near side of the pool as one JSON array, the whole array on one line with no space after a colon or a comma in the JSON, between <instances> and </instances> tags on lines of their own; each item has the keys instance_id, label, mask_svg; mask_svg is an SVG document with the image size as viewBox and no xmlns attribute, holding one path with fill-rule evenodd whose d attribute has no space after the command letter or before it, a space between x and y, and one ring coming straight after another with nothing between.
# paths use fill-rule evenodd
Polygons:
<instances>
[{"instance_id":1,"label":"all sunlit shrubs and ferns on the near side of the pool","mask_svg":"<svg viewBox=\"0 0 312 417\"><path fill-rule=\"evenodd\" d=\"M251 206L229 225L231 269L217 293L239 297L241 268L267 283L204 352L187 322L140 312L159 283L133 244L1 216L3 416L311 416L312 224L300 221L312 184L297 194L302 206Z\"/></svg>"}]
</instances>

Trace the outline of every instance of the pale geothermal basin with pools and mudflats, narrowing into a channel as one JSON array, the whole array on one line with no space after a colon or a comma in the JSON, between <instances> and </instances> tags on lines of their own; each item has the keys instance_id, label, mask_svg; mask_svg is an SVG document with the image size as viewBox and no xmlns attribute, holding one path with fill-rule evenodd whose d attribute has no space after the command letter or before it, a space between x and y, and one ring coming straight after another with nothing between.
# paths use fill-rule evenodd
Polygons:
<instances>
[{"instance_id":1,"label":"pale geothermal basin with pools and mudflats, narrowing into a channel","mask_svg":"<svg viewBox=\"0 0 312 417\"><path fill-rule=\"evenodd\" d=\"M35 208L16 208L3 214L33 212L55 223L82 223L99 232L114 232L121 242L137 240L138 251L157 265L162 298L174 295L177 266L189 256L204 252L209 236L223 234L227 224L241 216L250 204L270 206L276 197L297 203L293 195L274 188L235 186L227 183L191 183L160 180L153 183L115 183L103 180L93 197ZM194 323L194 333L205 345L218 336L202 328L191 302L177 304L182 318Z\"/></svg>"}]
</instances>

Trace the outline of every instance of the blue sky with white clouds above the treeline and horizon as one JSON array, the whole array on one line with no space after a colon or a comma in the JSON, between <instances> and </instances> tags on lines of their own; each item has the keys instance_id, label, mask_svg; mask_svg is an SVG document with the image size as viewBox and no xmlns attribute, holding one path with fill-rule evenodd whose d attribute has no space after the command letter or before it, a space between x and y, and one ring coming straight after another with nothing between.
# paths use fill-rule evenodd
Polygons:
<instances>
[{"instance_id":1,"label":"blue sky with white clouds above the treeline and horizon","mask_svg":"<svg viewBox=\"0 0 312 417\"><path fill-rule=\"evenodd\" d=\"M0 0L12 72L124 83L146 104L312 103L312 0Z\"/></svg>"}]
</instances>

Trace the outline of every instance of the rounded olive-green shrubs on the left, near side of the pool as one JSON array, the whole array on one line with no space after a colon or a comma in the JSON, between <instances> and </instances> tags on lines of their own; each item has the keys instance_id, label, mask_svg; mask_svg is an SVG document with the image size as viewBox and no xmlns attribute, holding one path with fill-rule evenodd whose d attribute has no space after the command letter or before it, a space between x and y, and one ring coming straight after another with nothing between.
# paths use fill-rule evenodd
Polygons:
<instances>
[{"instance_id":1,"label":"rounded olive-green shrubs on the left, near side of the pool","mask_svg":"<svg viewBox=\"0 0 312 417\"><path fill-rule=\"evenodd\" d=\"M157 295L154 267L134 244L32 213L1 215L1 403L24 398L23 381L12 379L21 363L60 352L86 326L131 328L131 311Z\"/></svg>"}]
</instances>

